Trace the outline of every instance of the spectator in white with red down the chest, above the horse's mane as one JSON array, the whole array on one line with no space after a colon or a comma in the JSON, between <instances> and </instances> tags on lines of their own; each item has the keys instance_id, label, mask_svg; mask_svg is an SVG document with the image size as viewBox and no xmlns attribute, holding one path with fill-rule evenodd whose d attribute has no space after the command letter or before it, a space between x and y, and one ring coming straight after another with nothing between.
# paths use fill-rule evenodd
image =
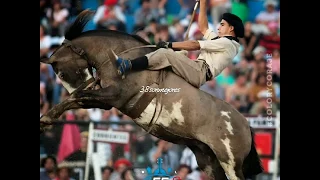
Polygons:
<instances>
[{"instance_id":1,"label":"spectator in white with red down the chest, above the horse's mane","mask_svg":"<svg viewBox=\"0 0 320 180\"><path fill-rule=\"evenodd\" d=\"M120 6L117 5L118 0L105 0L100 5L93 17L93 22L98 29L117 29L119 31L126 30L126 17ZM115 25L115 27L113 27Z\"/></svg>"}]
</instances>

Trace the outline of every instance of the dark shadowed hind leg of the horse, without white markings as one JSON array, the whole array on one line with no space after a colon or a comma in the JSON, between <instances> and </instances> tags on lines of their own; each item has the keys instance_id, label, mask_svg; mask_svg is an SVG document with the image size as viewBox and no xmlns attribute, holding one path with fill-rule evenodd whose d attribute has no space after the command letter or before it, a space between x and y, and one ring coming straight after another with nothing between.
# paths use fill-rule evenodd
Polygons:
<instances>
[{"instance_id":1,"label":"dark shadowed hind leg of the horse, without white markings","mask_svg":"<svg viewBox=\"0 0 320 180\"><path fill-rule=\"evenodd\" d=\"M227 180L223 168L221 167L216 155L210 147L202 142L197 146L188 146L195 154L199 168L204 171L211 179Z\"/></svg>"}]
</instances>

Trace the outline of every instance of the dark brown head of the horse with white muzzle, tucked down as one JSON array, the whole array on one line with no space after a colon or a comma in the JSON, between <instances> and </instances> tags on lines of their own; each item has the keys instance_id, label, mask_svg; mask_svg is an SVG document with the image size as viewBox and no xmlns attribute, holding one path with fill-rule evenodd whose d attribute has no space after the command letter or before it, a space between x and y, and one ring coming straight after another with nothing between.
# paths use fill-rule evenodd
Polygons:
<instances>
[{"instance_id":1,"label":"dark brown head of the horse with white muzzle, tucked down","mask_svg":"<svg viewBox=\"0 0 320 180\"><path fill-rule=\"evenodd\" d=\"M87 87L94 81L92 68L88 64L85 52L68 40L65 40L50 58L40 59L40 62L52 66L70 94Z\"/></svg>"}]
</instances>

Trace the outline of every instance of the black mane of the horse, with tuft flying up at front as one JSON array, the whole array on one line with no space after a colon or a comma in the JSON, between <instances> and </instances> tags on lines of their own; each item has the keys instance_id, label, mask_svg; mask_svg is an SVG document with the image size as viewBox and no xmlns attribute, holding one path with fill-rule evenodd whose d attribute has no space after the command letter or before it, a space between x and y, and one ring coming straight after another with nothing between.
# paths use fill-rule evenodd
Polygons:
<instances>
[{"instance_id":1,"label":"black mane of the horse, with tuft flying up at front","mask_svg":"<svg viewBox=\"0 0 320 180\"><path fill-rule=\"evenodd\" d=\"M78 37L84 37L84 36L115 36L115 35L122 35L122 36L130 36L134 39L136 39L139 42L144 43L145 45L150 45L149 42L144 40L142 37L135 35L135 34L128 34L121 31L114 31L114 30L89 30L83 32L84 27L87 25L87 23L91 20L91 15L93 15L94 12L90 10L83 10L76 18L76 20L69 26L68 30L65 33L65 39L68 39L69 41L76 39Z\"/></svg>"}]
</instances>

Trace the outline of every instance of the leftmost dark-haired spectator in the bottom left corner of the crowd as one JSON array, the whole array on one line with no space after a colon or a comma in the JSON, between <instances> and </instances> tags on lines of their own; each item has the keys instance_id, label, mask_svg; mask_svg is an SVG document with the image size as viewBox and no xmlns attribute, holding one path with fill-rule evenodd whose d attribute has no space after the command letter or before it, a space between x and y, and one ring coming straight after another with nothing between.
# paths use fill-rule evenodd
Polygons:
<instances>
[{"instance_id":1,"label":"leftmost dark-haired spectator in the bottom left corner of the crowd","mask_svg":"<svg viewBox=\"0 0 320 180\"><path fill-rule=\"evenodd\" d=\"M52 180L56 178L57 160L54 156L47 156L42 159L41 167L44 168L44 171L40 172L40 180Z\"/></svg>"}]
</instances>

